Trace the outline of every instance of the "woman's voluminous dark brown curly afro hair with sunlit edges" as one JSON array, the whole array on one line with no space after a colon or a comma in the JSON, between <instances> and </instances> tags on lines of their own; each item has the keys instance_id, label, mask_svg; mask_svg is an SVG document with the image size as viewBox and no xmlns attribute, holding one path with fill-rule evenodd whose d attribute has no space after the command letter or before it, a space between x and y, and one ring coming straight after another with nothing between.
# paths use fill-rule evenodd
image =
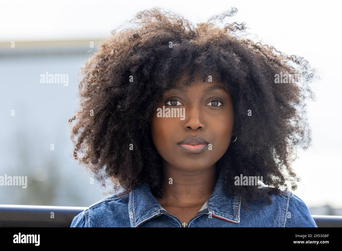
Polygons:
<instances>
[{"instance_id":1,"label":"woman's voluminous dark brown curly afro hair with sunlit edges","mask_svg":"<svg viewBox=\"0 0 342 251\"><path fill-rule=\"evenodd\" d=\"M100 43L81 69L80 108L69 122L76 120L70 135L75 159L104 187L110 180L115 192L123 188L123 196L147 181L152 193L162 196L161 156L150 119L162 93L190 69L201 76L214 73L231 92L238 140L216 163L225 172L226 193L241 195L247 208L245 201L260 195L271 204L269 195L289 182L296 189L300 179L291 162L297 147L311 143L304 102L314 100L308 84L315 71L302 57L247 39L245 23L222 28L213 23L236 12L232 8L194 28L177 13L144 10ZM301 81L275 83L277 74L299 74ZM240 174L263 176L269 189L235 186Z\"/></svg>"}]
</instances>

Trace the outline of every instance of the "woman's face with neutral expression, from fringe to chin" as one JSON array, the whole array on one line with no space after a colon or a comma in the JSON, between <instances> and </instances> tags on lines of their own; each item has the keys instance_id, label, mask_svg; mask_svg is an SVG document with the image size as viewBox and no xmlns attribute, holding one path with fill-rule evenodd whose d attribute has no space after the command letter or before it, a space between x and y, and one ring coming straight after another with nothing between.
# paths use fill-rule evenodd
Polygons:
<instances>
[{"instance_id":1,"label":"woman's face with neutral expression, from fringe to chin","mask_svg":"<svg viewBox=\"0 0 342 251\"><path fill-rule=\"evenodd\" d=\"M203 82L195 75L190 86L178 89L187 77L183 74L175 89L163 93L152 116L151 133L164 165L200 171L214 165L228 149L234 108L229 90L214 76L212 82L208 78Z\"/></svg>"}]
</instances>

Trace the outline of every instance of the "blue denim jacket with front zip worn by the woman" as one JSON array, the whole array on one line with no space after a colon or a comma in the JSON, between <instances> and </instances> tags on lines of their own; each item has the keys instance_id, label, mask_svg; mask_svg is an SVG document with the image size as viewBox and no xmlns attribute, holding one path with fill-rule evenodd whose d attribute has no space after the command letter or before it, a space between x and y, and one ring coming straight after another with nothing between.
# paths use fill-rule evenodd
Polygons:
<instances>
[{"instance_id":1,"label":"blue denim jacket with front zip worn by the woman","mask_svg":"<svg viewBox=\"0 0 342 251\"><path fill-rule=\"evenodd\" d=\"M221 172L209 199L188 222L162 208L145 182L124 197L112 195L92 204L70 227L317 227L305 203L290 191L271 194L271 205L257 200L244 210L240 196L225 193L223 181Z\"/></svg>"}]
</instances>

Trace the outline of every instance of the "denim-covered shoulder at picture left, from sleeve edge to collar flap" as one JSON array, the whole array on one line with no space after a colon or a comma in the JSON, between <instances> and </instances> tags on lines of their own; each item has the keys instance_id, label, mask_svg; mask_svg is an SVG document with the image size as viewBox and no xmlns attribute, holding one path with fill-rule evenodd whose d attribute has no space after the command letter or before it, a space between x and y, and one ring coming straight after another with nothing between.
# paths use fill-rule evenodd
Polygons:
<instances>
[{"instance_id":1,"label":"denim-covered shoulder at picture left, from sleeve edge to collar flap","mask_svg":"<svg viewBox=\"0 0 342 251\"><path fill-rule=\"evenodd\" d=\"M76 215L70 227L130 227L129 194L103 198Z\"/></svg>"}]
</instances>

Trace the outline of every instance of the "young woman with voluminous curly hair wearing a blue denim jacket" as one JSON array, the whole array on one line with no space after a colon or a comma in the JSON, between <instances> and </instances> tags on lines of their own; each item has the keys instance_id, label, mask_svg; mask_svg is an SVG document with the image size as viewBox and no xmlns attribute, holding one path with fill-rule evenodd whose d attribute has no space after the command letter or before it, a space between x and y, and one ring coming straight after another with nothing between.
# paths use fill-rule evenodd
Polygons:
<instances>
[{"instance_id":1,"label":"young woman with voluminous curly hair wearing a blue denim jacket","mask_svg":"<svg viewBox=\"0 0 342 251\"><path fill-rule=\"evenodd\" d=\"M115 195L72 227L317 227L288 190L314 71L240 37L244 23L211 23L235 12L194 28L145 10L87 61L74 156Z\"/></svg>"}]
</instances>

